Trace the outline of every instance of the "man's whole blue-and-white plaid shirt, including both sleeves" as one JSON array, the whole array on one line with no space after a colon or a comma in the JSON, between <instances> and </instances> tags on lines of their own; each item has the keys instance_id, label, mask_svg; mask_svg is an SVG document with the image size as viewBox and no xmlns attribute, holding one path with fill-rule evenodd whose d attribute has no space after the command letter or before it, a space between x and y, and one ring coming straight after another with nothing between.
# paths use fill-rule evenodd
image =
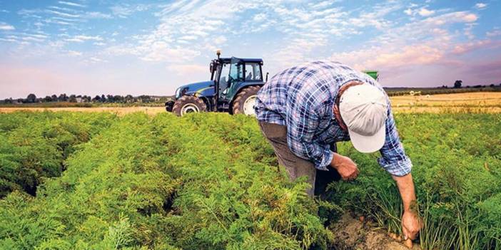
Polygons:
<instances>
[{"instance_id":1,"label":"man's whole blue-and-white plaid shirt, including both sleeves","mask_svg":"<svg viewBox=\"0 0 501 250\"><path fill-rule=\"evenodd\" d=\"M333 105L339 88L351 80L381 85L365 73L337 62L314 61L288 68L271 78L258 93L255 113L258 120L287 126L290 150L311 160L318 170L328 170L333 159L330 145L350 140L340 128ZM405 155L398 137L388 98L386 141L380 150L378 163L391 175L410 172L412 163Z\"/></svg>"}]
</instances>

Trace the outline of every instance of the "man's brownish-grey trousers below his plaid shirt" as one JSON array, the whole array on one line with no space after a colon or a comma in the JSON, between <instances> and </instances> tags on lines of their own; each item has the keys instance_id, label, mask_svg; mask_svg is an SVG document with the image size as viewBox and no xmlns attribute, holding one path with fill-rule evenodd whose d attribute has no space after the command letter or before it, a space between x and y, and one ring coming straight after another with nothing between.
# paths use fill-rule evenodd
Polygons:
<instances>
[{"instance_id":1,"label":"man's brownish-grey trousers below his plaid shirt","mask_svg":"<svg viewBox=\"0 0 501 250\"><path fill-rule=\"evenodd\" d=\"M268 142L273 146L278 164L285 167L290 179L307 177L307 182L311 184L311 188L306 190L308 195L323 196L327 185L340 179L340 175L335 169L329 167L329 171L317 170L313 162L294 155L287 145L287 127L261 121L259 121L259 127ZM335 144L330 145L330 150L337 151Z\"/></svg>"}]
</instances>

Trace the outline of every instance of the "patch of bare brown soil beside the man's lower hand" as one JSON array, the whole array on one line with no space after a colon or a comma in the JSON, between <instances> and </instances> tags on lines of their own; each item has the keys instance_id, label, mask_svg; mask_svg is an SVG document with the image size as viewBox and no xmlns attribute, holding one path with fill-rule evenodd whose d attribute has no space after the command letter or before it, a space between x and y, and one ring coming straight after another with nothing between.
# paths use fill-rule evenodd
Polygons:
<instances>
[{"instance_id":1,"label":"patch of bare brown soil beside the man's lower hand","mask_svg":"<svg viewBox=\"0 0 501 250\"><path fill-rule=\"evenodd\" d=\"M381 229L374 229L368 224L353 219L349 214L331 225L334 233L334 249L343 250L409 250L402 243L388 236ZM420 249L418 244L413 245L413 250Z\"/></svg>"}]
</instances>

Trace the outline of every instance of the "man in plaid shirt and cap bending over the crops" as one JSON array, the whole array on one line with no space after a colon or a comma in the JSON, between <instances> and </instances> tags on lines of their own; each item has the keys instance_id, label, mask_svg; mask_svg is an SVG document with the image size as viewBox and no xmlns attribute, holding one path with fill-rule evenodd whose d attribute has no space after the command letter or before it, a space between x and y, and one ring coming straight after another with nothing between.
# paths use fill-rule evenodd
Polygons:
<instances>
[{"instance_id":1,"label":"man in plaid shirt and cap bending over the crops","mask_svg":"<svg viewBox=\"0 0 501 250\"><path fill-rule=\"evenodd\" d=\"M335 142L351 140L364 153L379 150L378 162L397 182L403 200L404 239L415 239L420 223L411 209L416 199L412 163L377 81L341 63L305 63L274 75L260 89L255 113L280 165L290 179L306 176L311 196L323 194L336 176L358 175L355 162L339 155Z\"/></svg>"}]
</instances>

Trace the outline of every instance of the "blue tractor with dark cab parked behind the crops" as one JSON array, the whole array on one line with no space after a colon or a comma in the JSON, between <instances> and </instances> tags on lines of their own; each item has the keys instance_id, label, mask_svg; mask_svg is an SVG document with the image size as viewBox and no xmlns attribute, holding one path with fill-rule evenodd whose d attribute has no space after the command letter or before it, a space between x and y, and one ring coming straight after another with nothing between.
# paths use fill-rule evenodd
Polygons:
<instances>
[{"instance_id":1,"label":"blue tractor with dark cab parked behind the crops","mask_svg":"<svg viewBox=\"0 0 501 250\"><path fill-rule=\"evenodd\" d=\"M258 90L264 85L263 59L220 58L211 62L211 80L182 85L166 110L183 116L194 112L254 115ZM268 73L266 73L268 80Z\"/></svg>"}]
</instances>

